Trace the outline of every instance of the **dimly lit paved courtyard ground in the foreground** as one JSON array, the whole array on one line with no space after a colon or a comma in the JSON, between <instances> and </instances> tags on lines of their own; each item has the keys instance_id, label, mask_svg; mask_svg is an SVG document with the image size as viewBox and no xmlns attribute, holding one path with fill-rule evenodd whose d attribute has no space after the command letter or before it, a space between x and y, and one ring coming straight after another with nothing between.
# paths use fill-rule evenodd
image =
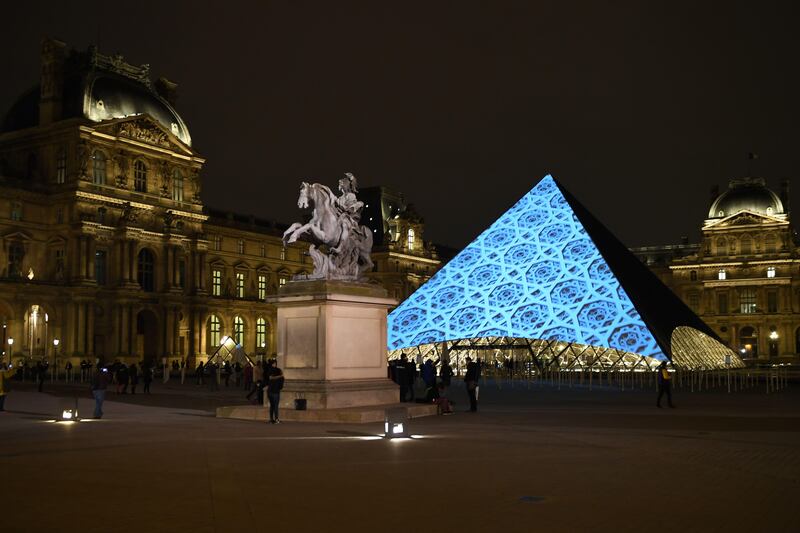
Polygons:
<instances>
[{"instance_id":1,"label":"dimly lit paved courtyard ground in the foreground","mask_svg":"<svg viewBox=\"0 0 800 533\"><path fill-rule=\"evenodd\" d=\"M380 424L214 418L241 391L154 384L52 422L85 387L15 384L0 413L0 530L797 531L800 388L481 387L480 411ZM47 392L50 390L51 392ZM54 393L54 394L53 394ZM462 398L463 396L463 398Z\"/></svg>"}]
</instances>

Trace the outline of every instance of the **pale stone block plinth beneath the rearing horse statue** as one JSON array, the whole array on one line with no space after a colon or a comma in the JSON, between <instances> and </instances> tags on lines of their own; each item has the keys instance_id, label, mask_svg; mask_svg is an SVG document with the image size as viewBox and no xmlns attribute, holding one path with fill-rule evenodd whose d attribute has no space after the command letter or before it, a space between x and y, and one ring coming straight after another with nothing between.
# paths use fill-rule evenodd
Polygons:
<instances>
[{"instance_id":1,"label":"pale stone block plinth beneath the rearing horse statue","mask_svg":"<svg viewBox=\"0 0 800 533\"><path fill-rule=\"evenodd\" d=\"M270 299L278 309L281 407L336 409L396 403L386 377L386 315L397 301L370 283L292 281Z\"/></svg>"}]
</instances>

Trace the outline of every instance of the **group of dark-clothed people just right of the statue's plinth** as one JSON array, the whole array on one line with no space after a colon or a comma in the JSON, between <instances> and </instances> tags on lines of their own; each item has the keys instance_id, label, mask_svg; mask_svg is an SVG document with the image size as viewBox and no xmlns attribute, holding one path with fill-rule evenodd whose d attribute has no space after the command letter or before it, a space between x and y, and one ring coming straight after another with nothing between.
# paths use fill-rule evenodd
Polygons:
<instances>
[{"instance_id":1,"label":"group of dark-clothed people just right of the statue's plinth","mask_svg":"<svg viewBox=\"0 0 800 533\"><path fill-rule=\"evenodd\" d=\"M480 379L480 359L472 361L466 358L467 367L464 376L464 384L469 397L470 411L478 410L478 380ZM452 401L448 398L448 389L454 375L453 368L447 360L439 361L439 369L432 359L426 359L417 371L417 365L408 360L406 354L401 354L400 359L389 362L389 377L400 386L400 401L415 401L415 387L417 377L422 378L425 385L425 397L419 401L424 403L436 403L440 406L443 414L453 412Z\"/></svg>"}]
</instances>

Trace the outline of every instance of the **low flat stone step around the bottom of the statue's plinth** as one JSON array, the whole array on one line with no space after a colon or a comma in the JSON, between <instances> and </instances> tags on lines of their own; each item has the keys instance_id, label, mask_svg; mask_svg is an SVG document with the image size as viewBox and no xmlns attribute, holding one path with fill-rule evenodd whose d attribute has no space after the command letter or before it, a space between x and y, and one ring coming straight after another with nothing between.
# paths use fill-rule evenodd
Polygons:
<instances>
[{"instance_id":1,"label":"low flat stone step around the bottom of the statue's plinth","mask_svg":"<svg viewBox=\"0 0 800 533\"><path fill-rule=\"evenodd\" d=\"M408 418L432 416L438 413L438 407L430 403L393 403L386 405L369 405L360 407L343 407L341 409L281 409L282 422L329 422L336 424L366 424L383 422L387 409L403 409ZM238 420L254 420L266 422L269 409L261 405L233 405L217 407L217 418L235 418Z\"/></svg>"}]
</instances>

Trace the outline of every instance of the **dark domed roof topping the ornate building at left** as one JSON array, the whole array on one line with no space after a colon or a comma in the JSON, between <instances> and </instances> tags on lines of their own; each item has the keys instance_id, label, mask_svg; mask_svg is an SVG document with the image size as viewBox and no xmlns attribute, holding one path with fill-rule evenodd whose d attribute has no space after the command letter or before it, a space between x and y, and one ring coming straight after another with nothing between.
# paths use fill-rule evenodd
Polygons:
<instances>
[{"instance_id":1,"label":"dark domed roof topping the ornate building at left","mask_svg":"<svg viewBox=\"0 0 800 533\"><path fill-rule=\"evenodd\" d=\"M147 114L191 146L192 137L186 123L156 91L149 74L147 65L129 65L121 56L104 56L94 47L85 53L73 51L64 63L60 119L86 118L101 122ZM166 80L164 83L172 89L175 87ZM5 116L2 131L39 125L40 87L37 85L26 91L14 103Z\"/></svg>"}]
</instances>

